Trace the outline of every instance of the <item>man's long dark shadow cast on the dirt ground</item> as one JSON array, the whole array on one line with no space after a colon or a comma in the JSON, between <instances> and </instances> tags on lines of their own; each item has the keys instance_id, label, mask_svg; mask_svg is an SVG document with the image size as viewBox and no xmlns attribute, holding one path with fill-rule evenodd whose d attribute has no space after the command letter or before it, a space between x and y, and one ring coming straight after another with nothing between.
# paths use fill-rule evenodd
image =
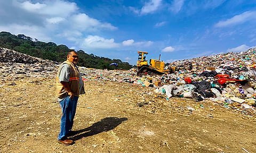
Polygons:
<instances>
[{"instance_id":1,"label":"man's long dark shadow cast on the dirt ground","mask_svg":"<svg viewBox=\"0 0 256 153\"><path fill-rule=\"evenodd\" d=\"M123 118L117 118L117 117L106 117L103 118L102 120L100 120L99 122L96 122L94 124L92 124L92 126L82 129L82 130L78 130L78 131L73 131L73 133L70 135L71 140L76 141L79 139L82 139L84 137L89 137L91 135L95 135L104 131L109 131L112 130L114 128L116 128L116 126L118 126L119 124L121 124L122 122L128 120L128 118L123 117ZM88 131L88 132L86 132ZM85 132L85 133L83 133ZM73 135L73 137L72 137Z\"/></svg>"}]
</instances>

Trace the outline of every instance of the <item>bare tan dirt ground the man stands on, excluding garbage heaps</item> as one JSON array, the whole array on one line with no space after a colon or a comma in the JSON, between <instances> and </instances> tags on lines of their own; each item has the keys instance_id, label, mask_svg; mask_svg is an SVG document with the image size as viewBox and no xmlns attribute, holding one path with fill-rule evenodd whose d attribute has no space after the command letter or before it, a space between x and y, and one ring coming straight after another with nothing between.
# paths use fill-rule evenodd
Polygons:
<instances>
[{"instance_id":1,"label":"bare tan dirt ground the man stands on, excluding garbage heaps","mask_svg":"<svg viewBox=\"0 0 256 153\"><path fill-rule=\"evenodd\" d=\"M97 80L85 81L75 144L63 146L55 80L1 79L0 152L256 152L253 113Z\"/></svg>"}]
</instances>

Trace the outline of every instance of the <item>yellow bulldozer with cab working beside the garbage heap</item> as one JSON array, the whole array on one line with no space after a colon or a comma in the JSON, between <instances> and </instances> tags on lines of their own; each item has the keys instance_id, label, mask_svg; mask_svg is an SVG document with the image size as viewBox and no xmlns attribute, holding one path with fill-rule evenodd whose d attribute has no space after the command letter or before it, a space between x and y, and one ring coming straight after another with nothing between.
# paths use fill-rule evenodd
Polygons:
<instances>
[{"instance_id":1,"label":"yellow bulldozer with cab working beside the garbage heap","mask_svg":"<svg viewBox=\"0 0 256 153\"><path fill-rule=\"evenodd\" d=\"M168 73L174 73L175 67L169 67L168 69L165 69L165 65L163 61L160 61L161 55L159 55L158 60L149 60L149 65L148 61L146 60L146 55L148 55L148 52L140 52L138 51L139 58L137 61L137 67L138 67L138 72L137 75L140 75L142 73L155 73L155 74L168 74Z\"/></svg>"}]
</instances>

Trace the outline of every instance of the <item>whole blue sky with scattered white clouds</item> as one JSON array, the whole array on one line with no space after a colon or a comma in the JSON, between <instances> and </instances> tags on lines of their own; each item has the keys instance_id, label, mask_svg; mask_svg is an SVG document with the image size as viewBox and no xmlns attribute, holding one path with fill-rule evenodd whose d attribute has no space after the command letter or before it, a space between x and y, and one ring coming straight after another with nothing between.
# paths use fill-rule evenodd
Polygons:
<instances>
[{"instance_id":1,"label":"whole blue sky with scattered white clouds","mask_svg":"<svg viewBox=\"0 0 256 153\"><path fill-rule=\"evenodd\" d=\"M0 31L136 64L256 46L256 1L0 0Z\"/></svg>"}]
</instances>

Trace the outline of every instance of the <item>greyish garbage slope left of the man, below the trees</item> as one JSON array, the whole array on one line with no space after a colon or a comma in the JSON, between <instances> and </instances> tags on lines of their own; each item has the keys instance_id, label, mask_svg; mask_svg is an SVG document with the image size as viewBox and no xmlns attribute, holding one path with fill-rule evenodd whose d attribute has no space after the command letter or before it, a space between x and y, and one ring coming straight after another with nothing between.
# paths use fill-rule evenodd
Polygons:
<instances>
[{"instance_id":1,"label":"greyish garbage slope left of the man, below the trees","mask_svg":"<svg viewBox=\"0 0 256 153\"><path fill-rule=\"evenodd\" d=\"M24 77L53 78L57 73L57 64L54 62L14 50L0 48L0 57L0 74L3 81Z\"/></svg>"}]
</instances>

